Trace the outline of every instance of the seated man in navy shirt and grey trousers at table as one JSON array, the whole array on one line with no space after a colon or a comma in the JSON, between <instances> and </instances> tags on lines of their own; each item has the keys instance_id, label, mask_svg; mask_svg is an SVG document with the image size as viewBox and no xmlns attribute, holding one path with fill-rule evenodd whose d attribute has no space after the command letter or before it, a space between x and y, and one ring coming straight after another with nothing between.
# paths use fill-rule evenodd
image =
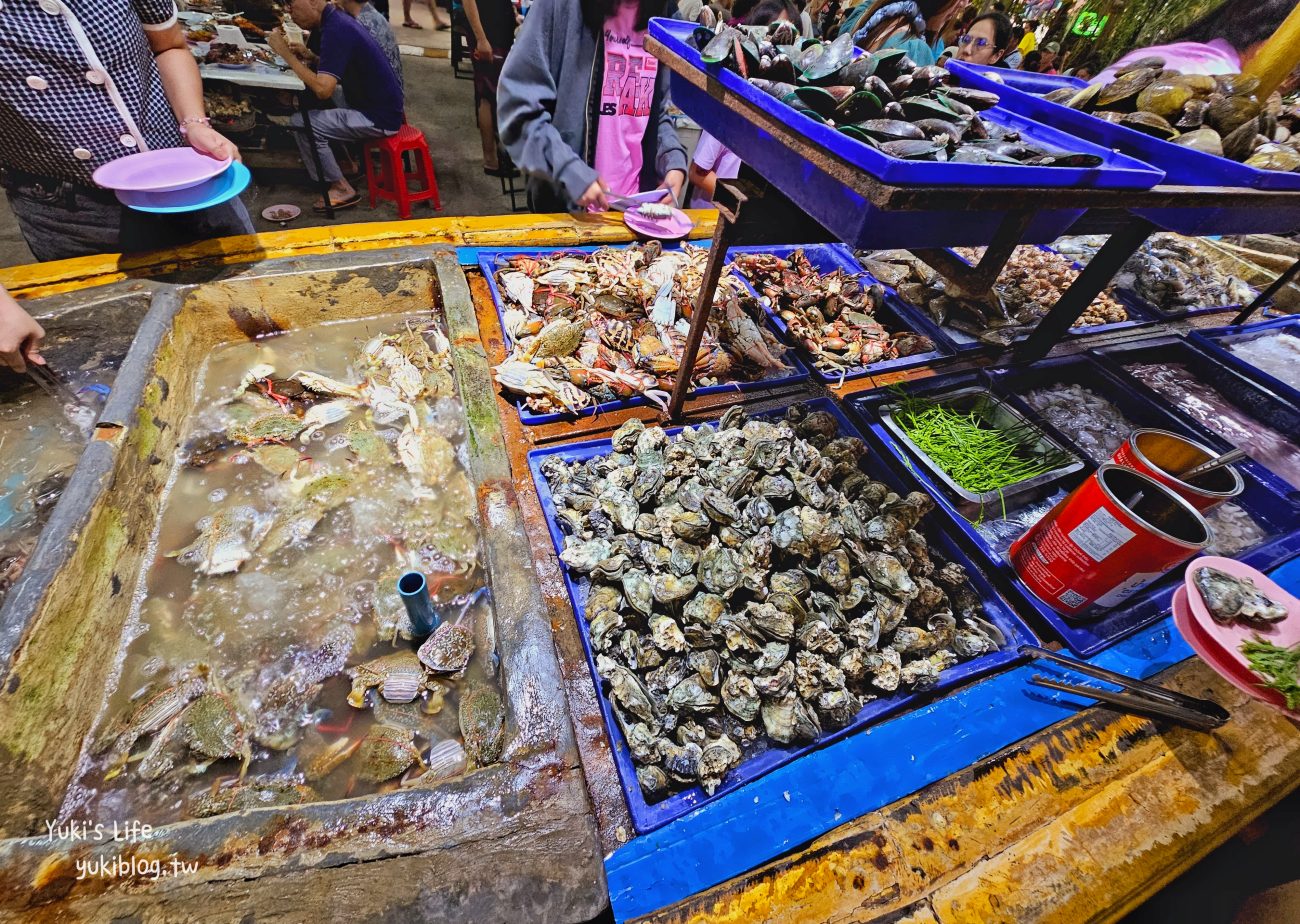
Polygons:
<instances>
[{"instance_id":1,"label":"seated man in navy shirt and grey trousers at table","mask_svg":"<svg viewBox=\"0 0 1300 924\"><path fill-rule=\"evenodd\" d=\"M316 175L312 144L306 131L298 133L298 148L303 165L312 179L330 185L329 198L334 208L356 205L361 196L343 177L343 172L330 151L330 140L352 142L391 135L402 127L403 99L393 68L384 49L360 22L329 0L292 0L289 14L303 29L320 36L320 57L316 70L303 64L290 48L289 39L277 29L266 36L266 44L298 74L316 99L328 100L335 88L343 88L347 107L312 112L312 131L320 156L321 174ZM313 43L315 44L315 43ZM291 125L303 129L302 114L295 113ZM325 203L316 204L317 211Z\"/></svg>"}]
</instances>

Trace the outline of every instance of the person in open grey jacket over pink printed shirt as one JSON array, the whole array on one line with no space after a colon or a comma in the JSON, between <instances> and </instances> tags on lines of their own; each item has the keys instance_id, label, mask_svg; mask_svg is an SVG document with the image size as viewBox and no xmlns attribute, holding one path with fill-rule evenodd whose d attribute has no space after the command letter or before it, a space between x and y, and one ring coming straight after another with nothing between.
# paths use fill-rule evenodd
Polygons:
<instances>
[{"instance_id":1,"label":"person in open grey jacket over pink printed shirt","mask_svg":"<svg viewBox=\"0 0 1300 924\"><path fill-rule=\"evenodd\" d=\"M668 69L642 47L664 0L537 0L497 91L500 140L534 212L607 208L663 188L680 201L686 151L668 117Z\"/></svg>"}]
</instances>

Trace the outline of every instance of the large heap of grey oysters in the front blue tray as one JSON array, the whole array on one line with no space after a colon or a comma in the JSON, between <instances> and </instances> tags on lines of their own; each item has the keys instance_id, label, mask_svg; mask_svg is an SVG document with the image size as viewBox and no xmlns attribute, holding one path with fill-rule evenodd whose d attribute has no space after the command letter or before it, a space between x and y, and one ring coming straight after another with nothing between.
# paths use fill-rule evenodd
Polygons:
<instances>
[{"instance_id":1,"label":"large heap of grey oysters in the front blue tray","mask_svg":"<svg viewBox=\"0 0 1300 924\"><path fill-rule=\"evenodd\" d=\"M1005 642L919 532L933 500L868 478L864 452L824 411L731 408L673 438L632 420L611 454L542 465L649 801L711 794L746 751L814 741Z\"/></svg>"}]
</instances>

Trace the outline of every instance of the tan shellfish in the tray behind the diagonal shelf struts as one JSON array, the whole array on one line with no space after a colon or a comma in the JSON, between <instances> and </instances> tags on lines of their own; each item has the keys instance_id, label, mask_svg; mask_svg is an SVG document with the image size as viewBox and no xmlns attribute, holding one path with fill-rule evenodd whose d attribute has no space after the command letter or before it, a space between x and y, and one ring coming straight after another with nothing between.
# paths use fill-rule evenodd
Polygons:
<instances>
[{"instance_id":1,"label":"tan shellfish in the tray behind the diagonal shelf struts","mask_svg":"<svg viewBox=\"0 0 1300 924\"><path fill-rule=\"evenodd\" d=\"M959 248L957 253L974 263L982 251ZM1079 274L1060 253L1017 247L992 291L985 298L972 298L909 251L874 251L861 253L859 260L871 276L892 286L898 298L926 311L935 324L1002 347L1034 330ZM1127 309L1102 291L1072 326L1127 320Z\"/></svg>"}]
</instances>

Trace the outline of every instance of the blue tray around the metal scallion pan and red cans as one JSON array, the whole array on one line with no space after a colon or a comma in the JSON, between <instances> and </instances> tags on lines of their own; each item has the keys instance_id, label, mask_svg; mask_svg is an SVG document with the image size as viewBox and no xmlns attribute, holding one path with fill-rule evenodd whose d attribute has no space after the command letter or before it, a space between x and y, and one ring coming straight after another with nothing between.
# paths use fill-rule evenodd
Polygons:
<instances>
[{"instance_id":1,"label":"blue tray around the metal scallion pan and red cans","mask_svg":"<svg viewBox=\"0 0 1300 924\"><path fill-rule=\"evenodd\" d=\"M909 387L907 390L914 394L936 394L968 385L988 386L998 398L1009 402L1026 417L1079 452L1080 457L1087 459L1074 446L1069 435L1062 434L1049 425L1028 404L1018 398L1024 391L1057 382L1078 382L1098 391L1108 400L1113 402L1136 426L1161 428L1190 437L1199 435L1192 426L1182 421L1178 416L1134 394L1127 382L1109 374L1100 365L1084 356L1046 360L1023 370L944 376L928 379L923 385ZM868 441L881 450L881 454L889 457L896 467L901 470L907 470L920 481L924 490L939 502L939 508L957 526L967 547L974 551L979 561L985 564L987 573L994 577L998 586L1009 587L1015 599L1036 612L1071 651L1080 656L1093 655L1169 613L1170 598L1180 581L1180 569L1139 591L1123 607L1110 610L1098 619L1066 619L1039 600L1024 582L1019 580L1014 568L1011 568L1002 554L991 546L966 517L957 512L945 493L933 483L920 465L915 464L904 444L880 421L880 405L893 400L897 400L893 395L876 392L850 399L849 407L867 424ZM1061 487L1069 491L1087 477L1093 468L1096 467L1089 464L1086 472L1063 480ZM1270 533L1270 538L1256 548L1240 554L1238 558L1257 568L1271 568L1300 552L1300 507L1287 496L1287 493L1279 487L1268 472L1252 469L1249 465L1242 465L1240 468L1243 469L1245 491L1235 498L1234 503L1239 504L1257 522L1265 526ZM997 512L993 511L993 513Z\"/></svg>"}]
</instances>

